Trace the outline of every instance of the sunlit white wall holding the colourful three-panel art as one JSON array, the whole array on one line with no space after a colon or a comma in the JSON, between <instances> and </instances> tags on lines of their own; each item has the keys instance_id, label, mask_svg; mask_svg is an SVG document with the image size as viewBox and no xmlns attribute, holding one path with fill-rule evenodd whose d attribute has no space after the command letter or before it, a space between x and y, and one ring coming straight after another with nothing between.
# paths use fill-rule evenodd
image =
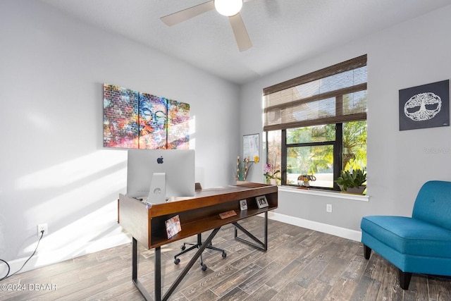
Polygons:
<instances>
[{"instance_id":1,"label":"sunlit white wall holding the colourful three-panel art","mask_svg":"<svg viewBox=\"0 0 451 301\"><path fill-rule=\"evenodd\" d=\"M189 103L197 181L232 183L239 87L39 1L0 1L0 28L0 259L23 263L38 223L49 235L25 269L128 241L116 223L126 151L102 146L104 82Z\"/></svg>"}]
</instances>

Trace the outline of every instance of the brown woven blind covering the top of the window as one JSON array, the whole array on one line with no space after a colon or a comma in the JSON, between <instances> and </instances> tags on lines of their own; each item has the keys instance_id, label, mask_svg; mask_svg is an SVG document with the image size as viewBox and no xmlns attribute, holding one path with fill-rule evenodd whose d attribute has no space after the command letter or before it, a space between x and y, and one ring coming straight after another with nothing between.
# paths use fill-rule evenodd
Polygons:
<instances>
[{"instance_id":1,"label":"brown woven blind covering the top of the window","mask_svg":"<svg viewBox=\"0 0 451 301\"><path fill-rule=\"evenodd\" d=\"M264 130L366 120L366 54L264 88Z\"/></svg>"}]
</instances>

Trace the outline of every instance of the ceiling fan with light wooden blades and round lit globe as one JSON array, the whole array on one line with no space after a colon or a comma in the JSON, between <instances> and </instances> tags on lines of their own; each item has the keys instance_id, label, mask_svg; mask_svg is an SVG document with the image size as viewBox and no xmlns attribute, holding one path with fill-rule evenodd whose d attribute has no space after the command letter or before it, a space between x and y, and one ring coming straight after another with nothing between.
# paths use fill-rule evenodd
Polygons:
<instances>
[{"instance_id":1,"label":"ceiling fan with light wooden blades and round lit globe","mask_svg":"<svg viewBox=\"0 0 451 301\"><path fill-rule=\"evenodd\" d=\"M238 49L240 49L240 51L245 51L252 47L251 39L249 39L245 23L243 23L240 15L242 4L247 1L250 0L211 0L197 6L186 8L183 11L178 11L177 13L171 13L160 19L166 25L172 26L190 18L194 18L195 16L199 16L207 11L216 9L218 13L228 17L230 25L232 25Z\"/></svg>"}]
</instances>

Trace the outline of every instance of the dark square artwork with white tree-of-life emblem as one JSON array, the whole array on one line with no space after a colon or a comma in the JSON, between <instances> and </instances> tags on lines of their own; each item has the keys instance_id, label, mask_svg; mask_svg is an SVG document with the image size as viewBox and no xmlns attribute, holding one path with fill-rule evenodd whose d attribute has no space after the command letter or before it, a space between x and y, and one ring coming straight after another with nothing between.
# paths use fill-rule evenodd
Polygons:
<instances>
[{"instance_id":1,"label":"dark square artwork with white tree-of-life emblem","mask_svg":"<svg viewBox=\"0 0 451 301\"><path fill-rule=\"evenodd\" d=\"M450 80L400 90L400 130L450 125Z\"/></svg>"}]
</instances>

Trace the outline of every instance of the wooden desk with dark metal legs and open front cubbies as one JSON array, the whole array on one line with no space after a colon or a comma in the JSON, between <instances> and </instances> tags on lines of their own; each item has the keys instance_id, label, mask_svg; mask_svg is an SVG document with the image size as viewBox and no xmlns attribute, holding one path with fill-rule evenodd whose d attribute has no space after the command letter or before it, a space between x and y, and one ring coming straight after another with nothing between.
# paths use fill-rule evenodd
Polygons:
<instances>
[{"instance_id":1,"label":"wooden desk with dark metal legs and open front cubbies","mask_svg":"<svg viewBox=\"0 0 451 301\"><path fill-rule=\"evenodd\" d=\"M268 207L259 209L255 197L261 195L266 196ZM242 199L247 200L247 210L240 211L240 200ZM199 258L200 254L202 254L205 247L209 245L216 233L218 233L221 226L233 223L235 225L235 239L266 251L268 249L268 211L276 209L277 206L278 188L276 185L248 182L238 182L237 185L223 188L199 190L194 197L175 198L165 204L154 204L150 208L137 199L119 195L119 221L125 231L132 235L133 283L135 283L147 300L152 299L137 279L137 242L140 242L147 249L155 249L155 300L157 301L168 299ZM230 210L234 210L237 215L227 219L221 219L219 217L220 213ZM237 223L242 219L257 214L264 214L265 216L264 242L261 242L252 233L249 233ZM175 215L178 215L180 218L182 231L173 236L173 238L168 239L165 221ZM245 233L252 242L238 238L237 229ZM161 297L161 246L209 230L213 230L213 232L206 238L196 254L194 254L190 263L180 273L180 276L178 276L173 285L171 285L171 288L166 292L166 295Z\"/></svg>"}]
</instances>

